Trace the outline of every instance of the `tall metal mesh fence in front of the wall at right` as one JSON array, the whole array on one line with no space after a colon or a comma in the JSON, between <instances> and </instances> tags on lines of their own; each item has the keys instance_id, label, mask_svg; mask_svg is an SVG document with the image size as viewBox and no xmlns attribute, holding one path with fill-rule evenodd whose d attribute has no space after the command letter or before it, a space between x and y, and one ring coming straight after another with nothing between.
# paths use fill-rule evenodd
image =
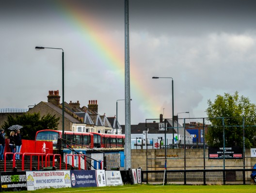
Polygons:
<instances>
[{"instance_id":1,"label":"tall metal mesh fence in front of the wall at right","mask_svg":"<svg viewBox=\"0 0 256 193\"><path fill-rule=\"evenodd\" d=\"M253 183L255 120L147 119L144 144L137 146L146 151L144 180L165 184ZM206 134L212 137L206 138Z\"/></svg>"}]
</instances>

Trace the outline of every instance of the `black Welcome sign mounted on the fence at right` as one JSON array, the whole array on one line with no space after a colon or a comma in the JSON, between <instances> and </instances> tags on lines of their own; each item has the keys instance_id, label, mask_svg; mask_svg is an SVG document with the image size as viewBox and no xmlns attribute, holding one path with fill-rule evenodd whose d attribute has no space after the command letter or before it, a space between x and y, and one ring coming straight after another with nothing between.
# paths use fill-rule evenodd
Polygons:
<instances>
[{"instance_id":1,"label":"black Welcome sign mounted on the fence at right","mask_svg":"<svg viewBox=\"0 0 256 193\"><path fill-rule=\"evenodd\" d=\"M224 151L223 151L224 149ZM213 148L209 147L209 159L242 159L242 148L240 147L226 147L226 148Z\"/></svg>"}]
</instances>

